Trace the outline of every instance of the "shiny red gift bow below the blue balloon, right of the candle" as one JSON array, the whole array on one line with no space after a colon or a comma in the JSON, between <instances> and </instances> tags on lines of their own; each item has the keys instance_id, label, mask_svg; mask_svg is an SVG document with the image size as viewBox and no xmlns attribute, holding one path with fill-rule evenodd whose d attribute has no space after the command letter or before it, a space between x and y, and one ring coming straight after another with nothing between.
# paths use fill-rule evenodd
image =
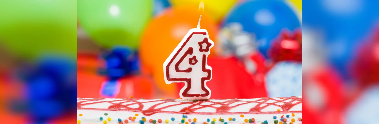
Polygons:
<instances>
[{"instance_id":1,"label":"shiny red gift bow below the blue balloon, right of the candle","mask_svg":"<svg viewBox=\"0 0 379 124\"><path fill-rule=\"evenodd\" d=\"M273 43L273 46L268 51L269 57L274 62L278 61L298 61L301 62L301 31L295 30L290 32L283 30L279 37Z\"/></svg>"}]
</instances>

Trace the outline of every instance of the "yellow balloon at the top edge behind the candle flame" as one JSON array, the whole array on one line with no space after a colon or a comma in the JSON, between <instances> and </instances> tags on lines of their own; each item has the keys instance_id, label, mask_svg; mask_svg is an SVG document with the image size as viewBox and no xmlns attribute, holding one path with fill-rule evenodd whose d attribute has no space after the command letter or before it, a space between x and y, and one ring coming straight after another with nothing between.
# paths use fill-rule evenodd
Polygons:
<instances>
[{"instance_id":1,"label":"yellow balloon at the top edge behind the candle flame","mask_svg":"<svg viewBox=\"0 0 379 124\"><path fill-rule=\"evenodd\" d=\"M196 12L201 1L204 2L204 12L219 22L237 0L171 0L174 8L186 8Z\"/></svg>"}]
</instances>

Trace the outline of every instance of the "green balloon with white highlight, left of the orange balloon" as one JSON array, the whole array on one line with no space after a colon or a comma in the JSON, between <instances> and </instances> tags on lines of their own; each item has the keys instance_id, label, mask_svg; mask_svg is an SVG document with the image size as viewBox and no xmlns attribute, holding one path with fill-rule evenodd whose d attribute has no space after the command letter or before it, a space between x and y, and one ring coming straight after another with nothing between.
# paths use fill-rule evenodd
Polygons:
<instances>
[{"instance_id":1,"label":"green balloon with white highlight, left of the orange balloon","mask_svg":"<svg viewBox=\"0 0 379 124\"><path fill-rule=\"evenodd\" d=\"M81 27L105 48L136 48L152 17L152 0L78 0Z\"/></svg>"}]
</instances>

